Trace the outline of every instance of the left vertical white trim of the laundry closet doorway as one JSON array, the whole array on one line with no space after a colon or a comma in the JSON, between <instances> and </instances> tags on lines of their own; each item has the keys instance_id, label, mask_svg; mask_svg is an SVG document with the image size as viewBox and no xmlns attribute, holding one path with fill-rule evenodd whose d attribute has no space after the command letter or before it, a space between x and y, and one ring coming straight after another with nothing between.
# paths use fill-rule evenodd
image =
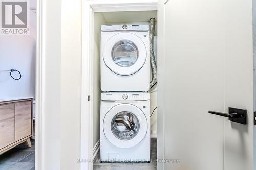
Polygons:
<instances>
[{"instance_id":1,"label":"left vertical white trim of the laundry closet doorway","mask_svg":"<svg viewBox=\"0 0 256 170\"><path fill-rule=\"evenodd\" d=\"M92 155L92 115L90 101L87 96L90 94L91 80L91 14L92 9L88 1L82 1L82 73L81 73L81 154L80 159L91 159ZM91 98L92 100L92 98ZM92 102L91 102L92 103ZM92 169L92 163L81 163L80 169Z\"/></svg>"}]
</instances>

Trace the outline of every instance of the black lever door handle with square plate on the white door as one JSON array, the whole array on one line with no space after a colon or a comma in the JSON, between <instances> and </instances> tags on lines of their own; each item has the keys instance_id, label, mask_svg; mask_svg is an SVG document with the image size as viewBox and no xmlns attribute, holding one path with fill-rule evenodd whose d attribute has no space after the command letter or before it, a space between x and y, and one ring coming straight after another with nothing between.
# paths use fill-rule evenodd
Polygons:
<instances>
[{"instance_id":1,"label":"black lever door handle with square plate on the white door","mask_svg":"<svg viewBox=\"0 0 256 170\"><path fill-rule=\"evenodd\" d=\"M228 113L216 112L216 111L209 111L210 114L216 114L219 116L228 117L228 120L232 122L237 122L240 124L247 124L247 111L243 109L236 109L236 108L228 108Z\"/></svg>"}]
</instances>

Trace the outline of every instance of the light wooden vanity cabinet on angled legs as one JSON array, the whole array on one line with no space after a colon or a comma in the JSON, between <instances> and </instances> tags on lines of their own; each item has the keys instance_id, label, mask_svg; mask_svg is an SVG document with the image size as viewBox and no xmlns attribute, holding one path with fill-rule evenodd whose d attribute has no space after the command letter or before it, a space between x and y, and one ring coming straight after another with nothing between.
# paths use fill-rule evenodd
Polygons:
<instances>
[{"instance_id":1,"label":"light wooden vanity cabinet on angled legs","mask_svg":"<svg viewBox=\"0 0 256 170\"><path fill-rule=\"evenodd\" d=\"M0 101L0 154L27 142L31 147L32 98Z\"/></svg>"}]
</instances>

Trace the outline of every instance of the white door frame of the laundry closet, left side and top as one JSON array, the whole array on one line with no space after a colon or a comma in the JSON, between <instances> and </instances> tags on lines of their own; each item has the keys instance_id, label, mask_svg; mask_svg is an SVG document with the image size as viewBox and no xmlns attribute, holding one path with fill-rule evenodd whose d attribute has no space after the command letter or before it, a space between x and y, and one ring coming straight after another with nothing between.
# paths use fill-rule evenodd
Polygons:
<instances>
[{"instance_id":1,"label":"white door frame of the laundry closet, left side and top","mask_svg":"<svg viewBox=\"0 0 256 170\"><path fill-rule=\"evenodd\" d=\"M91 170L93 159L93 42L94 12L156 11L158 0L82 1L81 150L80 169ZM90 97L89 97L90 96ZM90 99L89 99L90 98Z\"/></svg>"}]
</instances>

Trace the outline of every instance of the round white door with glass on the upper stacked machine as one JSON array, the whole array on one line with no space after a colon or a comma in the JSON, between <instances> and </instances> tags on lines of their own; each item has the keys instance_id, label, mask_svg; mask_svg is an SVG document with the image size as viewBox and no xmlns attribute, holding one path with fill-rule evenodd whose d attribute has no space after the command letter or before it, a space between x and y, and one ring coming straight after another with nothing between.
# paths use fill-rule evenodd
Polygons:
<instances>
[{"instance_id":1,"label":"round white door with glass on the upper stacked machine","mask_svg":"<svg viewBox=\"0 0 256 170\"><path fill-rule=\"evenodd\" d=\"M139 71L146 57L145 44L132 33L119 33L112 36L106 42L103 51L106 66L116 74L123 76Z\"/></svg>"}]
</instances>

